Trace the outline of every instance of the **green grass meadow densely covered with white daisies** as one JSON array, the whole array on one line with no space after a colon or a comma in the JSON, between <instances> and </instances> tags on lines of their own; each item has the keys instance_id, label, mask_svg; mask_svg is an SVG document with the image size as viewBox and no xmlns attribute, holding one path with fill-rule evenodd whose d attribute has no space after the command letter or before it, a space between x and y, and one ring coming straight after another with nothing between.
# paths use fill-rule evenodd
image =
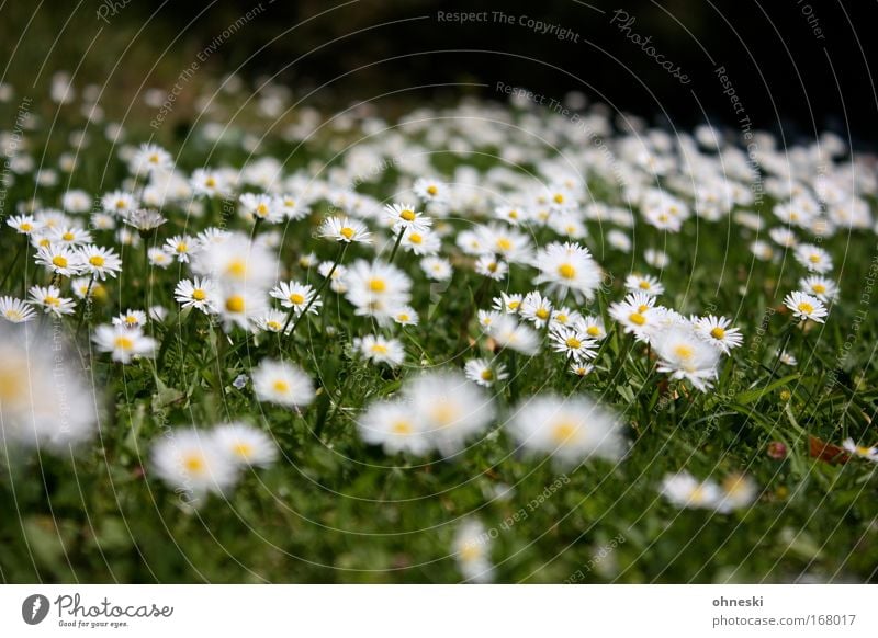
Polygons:
<instances>
[{"instance_id":1,"label":"green grass meadow densely covered with white daisies","mask_svg":"<svg viewBox=\"0 0 878 638\"><path fill-rule=\"evenodd\" d=\"M874 580L837 136L0 93L4 582Z\"/></svg>"}]
</instances>

